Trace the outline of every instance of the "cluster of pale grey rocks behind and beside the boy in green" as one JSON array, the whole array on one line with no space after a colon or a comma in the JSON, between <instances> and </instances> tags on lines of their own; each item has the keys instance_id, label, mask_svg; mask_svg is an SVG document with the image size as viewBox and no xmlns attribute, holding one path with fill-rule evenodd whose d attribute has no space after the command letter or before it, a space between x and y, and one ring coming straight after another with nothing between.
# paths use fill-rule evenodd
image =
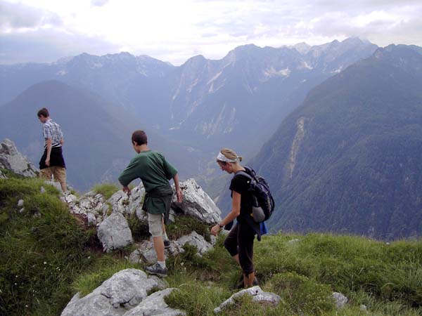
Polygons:
<instances>
[{"instance_id":1,"label":"cluster of pale grey rocks behind and beside the boy in green","mask_svg":"<svg viewBox=\"0 0 422 316\"><path fill-rule=\"evenodd\" d=\"M174 221L174 216L180 214L192 216L207 224L218 223L221 220L221 211L195 180L189 179L180 185L184 201L177 203L174 197L170 220ZM135 187L129 196L122 190L115 192L110 199L105 199L96 192L88 192L80 198L65 193L62 200L68 203L72 213L84 216L90 225L98 227L98 239L103 243L104 250L110 251L132 243L132 234L125 218L136 214L141 223L148 225L147 214L142 210L144 193L145 190L140 185ZM212 248L212 244L205 242L205 239L196 232L192 232L191 235L172 242L170 254L183 252L182 247L186 243L196 246L200 254ZM143 242L138 251L143 254L143 260L146 262L153 263L156 260L151 242Z\"/></svg>"}]
</instances>

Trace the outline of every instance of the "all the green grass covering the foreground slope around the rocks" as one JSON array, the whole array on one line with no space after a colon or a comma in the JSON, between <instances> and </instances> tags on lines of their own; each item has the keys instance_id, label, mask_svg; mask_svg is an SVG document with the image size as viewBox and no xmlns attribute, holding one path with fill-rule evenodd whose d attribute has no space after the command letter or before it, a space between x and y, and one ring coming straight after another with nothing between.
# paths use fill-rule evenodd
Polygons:
<instances>
[{"instance_id":1,"label":"all the green grass covering the foreground slope around the rocks","mask_svg":"<svg viewBox=\"0 0 422 316\"><path fill-rule=\"evenodd\" d=\"M60 202L58 192L40 193L37 179L0 179L0 315L60 315L76 291L88 294L115 272L140 268L127 261L134 247L102 254L94 230L84 228ZM20 213L18 200L24 200ZM132 219L134 220L134 219ZM139 227L139 237L144 236ZM169 227L171 238L204 225L181 218ZM187 230L186 230L187 231ZM290 239L300 239L289 244ZM169 258L171 287L167 298L188 315L212 310L236 289L241 270L226 253L220 237L203 258L191 246ZM277 307L254 305L241 298L222 315L422 315L422 242L384 244L324 234L264 236L255 244L255 268L261 287L283 300ZM337 311L329 298L341 291L347 308ZM362 312L364 304L369 312Z\"/></svg>"}]
</instances>

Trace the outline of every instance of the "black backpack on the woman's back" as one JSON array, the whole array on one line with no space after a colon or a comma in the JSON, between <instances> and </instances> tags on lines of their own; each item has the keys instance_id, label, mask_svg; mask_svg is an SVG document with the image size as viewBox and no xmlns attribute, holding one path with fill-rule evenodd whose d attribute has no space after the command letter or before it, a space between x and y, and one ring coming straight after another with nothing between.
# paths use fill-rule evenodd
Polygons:
<instances>
[{"instance_id":1,"label":"black backpack on the woman's back","mask_svg":"<svg viewBox=\"0 0 422 316\"><path fill-rule=\"evenodd\" d=\"M244 167L246 171L238 171L236 174L241 174L250 180L249 190L252 192L253 205L252 216L257 223L268 220L274 211L274 199L269 190L267 181L261 176L257 176L252 168Z\"/></svg>"}]
</instances>

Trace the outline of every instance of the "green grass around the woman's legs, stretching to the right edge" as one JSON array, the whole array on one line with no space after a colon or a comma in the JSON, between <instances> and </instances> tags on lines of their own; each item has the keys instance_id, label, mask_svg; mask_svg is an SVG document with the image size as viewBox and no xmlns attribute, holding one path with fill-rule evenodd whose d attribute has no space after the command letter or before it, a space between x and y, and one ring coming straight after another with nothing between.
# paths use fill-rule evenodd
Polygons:
<instances>
[{"instance_id":1,"label":"green grass around the woman's legs, stretching to the right edge","mask_svg":"<svg viewBox=\"0 0 422 316\"><path fill-rule=\"evenodd\" d=\"M300 242L288 244L296 238ZM203 258L189 249L172 258L170 285L181 291L167 298L169 305L188 315L213 315L238 291L241 270L222 241ZM387 245L329 234L265 236L255 242L255 269L262 289L279 294L281 303L257 305L240 298L222 315L422 315L421 246L421 241ZM350 299L343 310L333 305L333 291ZM362 304L368 312L360 310Z\"/></svg>"}]
</instances>

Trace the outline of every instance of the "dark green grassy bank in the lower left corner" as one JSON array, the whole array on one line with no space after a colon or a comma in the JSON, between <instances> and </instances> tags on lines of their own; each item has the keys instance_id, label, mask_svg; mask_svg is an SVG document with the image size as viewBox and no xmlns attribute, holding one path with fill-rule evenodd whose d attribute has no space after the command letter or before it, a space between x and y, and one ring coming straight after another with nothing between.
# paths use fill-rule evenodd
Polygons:
<instances>
[{"instance_id":1,"label":"dark green grassy bank in the lower left corner","mask_svg":"<svg viewBox=\"0 0 422 316\"><path fill-rule=\"evenodd\" d=\"M69 284L89 264L83 230L39 179L0 179L0 315L27 315L40 308L55 315L72 297ZM18 200L24 200L19 212Z\"/></svg>"}]
</instances>

